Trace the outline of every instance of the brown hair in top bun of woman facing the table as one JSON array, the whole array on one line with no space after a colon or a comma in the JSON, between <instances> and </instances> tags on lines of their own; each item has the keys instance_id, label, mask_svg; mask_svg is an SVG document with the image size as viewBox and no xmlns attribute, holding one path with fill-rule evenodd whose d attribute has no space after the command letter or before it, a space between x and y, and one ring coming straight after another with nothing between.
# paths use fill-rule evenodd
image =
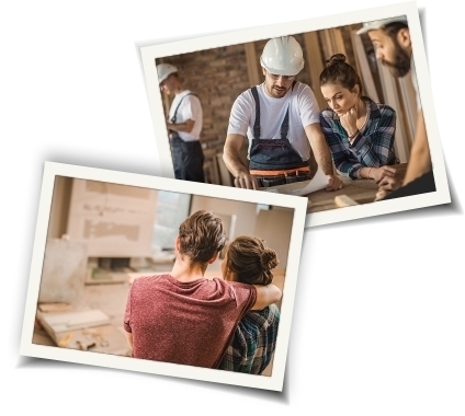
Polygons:
<instances>
[{"instance_id":1,"label":"brown hair in top bun of woman facing the table","mask_svg":"<svg viewBox=\"0 0 465 416\"><path fill-rule=\"evenodd\" d=\"M326 68L320 73L320 86L326 84L339 84L349 91L359 85L359 94L362 95L362 80L353 67L345 62L345 55L342 54L326 60Z\"/></svg>"}]
</instances>

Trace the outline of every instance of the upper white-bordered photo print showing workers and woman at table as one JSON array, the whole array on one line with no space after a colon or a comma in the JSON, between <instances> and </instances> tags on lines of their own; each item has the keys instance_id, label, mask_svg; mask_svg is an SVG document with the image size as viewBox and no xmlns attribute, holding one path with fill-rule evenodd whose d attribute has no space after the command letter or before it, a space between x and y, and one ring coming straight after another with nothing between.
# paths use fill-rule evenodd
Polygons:
<instances>
[{"instance_id":1,"label":"upper white-bordered photo print showing workers and woman at table","mask_svg":"<svg viewBox=\"0 0 465 416\"><path fill-rule=\"evenodd\" d=\"M416 2L138 46L163 176L306 228L451 203Z\"/></svg>"}]
</instances>

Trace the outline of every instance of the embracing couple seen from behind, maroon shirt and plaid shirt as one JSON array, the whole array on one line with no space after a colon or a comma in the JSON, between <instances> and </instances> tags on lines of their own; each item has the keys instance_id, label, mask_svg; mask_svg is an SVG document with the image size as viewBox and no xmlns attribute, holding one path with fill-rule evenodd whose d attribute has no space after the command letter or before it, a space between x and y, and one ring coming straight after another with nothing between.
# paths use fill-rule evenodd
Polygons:
<instances>
[{"instance_id":1,"label":"embracing couple seen from behind, maroon shirt and plaid shirt","mask_svg":"<svg viewBox=\"0 0 465 416\"><path fill-rule=\"evenodd\" d=\"M282 297L276 253L251 235L225 246L222 219L196 211L179 227L171 274L134 280L124 315L134 358L253 374L269 366ZM223 252L223 278L205 278Z\"/></svg>"}]
</instances>

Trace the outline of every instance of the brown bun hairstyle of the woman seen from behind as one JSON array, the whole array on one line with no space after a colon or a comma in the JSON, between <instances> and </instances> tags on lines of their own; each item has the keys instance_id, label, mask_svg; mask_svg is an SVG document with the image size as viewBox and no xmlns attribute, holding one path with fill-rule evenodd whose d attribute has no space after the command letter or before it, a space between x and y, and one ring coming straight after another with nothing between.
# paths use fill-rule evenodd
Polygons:
<instances>
[{"instance_id":1,"label":"brown bun hairstyle of the woman seen from behind","mask_svg":"<svg viewBox=\"0 0 465 416\"><path fill-rule=\"evenodd\" d=\"M256 236L240 235L228 246L226 267L243 284L270 285L273 280L271 270L279 263L276 252Z\"/></svg>"}]
</instances>

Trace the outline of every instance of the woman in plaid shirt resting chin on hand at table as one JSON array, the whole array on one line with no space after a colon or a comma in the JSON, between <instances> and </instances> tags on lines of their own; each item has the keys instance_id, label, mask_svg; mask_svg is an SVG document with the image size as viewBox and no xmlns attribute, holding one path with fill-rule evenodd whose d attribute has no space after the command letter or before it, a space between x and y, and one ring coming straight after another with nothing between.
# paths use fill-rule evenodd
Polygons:
<instances>
[{"instance_id":1,"label":"woman in plaid shirt resting chin on hand at table","mask_svg":"<svg viewBox=\"0 0 465 416\"><path fill-rule=\"evenodd\" d=\"M320 123L336 169L353 180L376 183L395 176L396 111L362 94L362 81L342 54L326 61L319 81L329 105Z\"/></svg>"}]
</instances>

